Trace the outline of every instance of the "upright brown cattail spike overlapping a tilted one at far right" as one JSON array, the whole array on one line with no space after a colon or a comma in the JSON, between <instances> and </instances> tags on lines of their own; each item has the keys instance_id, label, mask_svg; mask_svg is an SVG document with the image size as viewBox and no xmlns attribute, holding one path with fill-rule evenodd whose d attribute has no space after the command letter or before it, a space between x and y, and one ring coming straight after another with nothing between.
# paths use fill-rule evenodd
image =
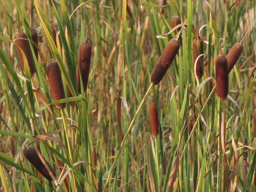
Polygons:
<instances>
[{"instance_id":1,"label":"upright brown cattail spike overlapping a tilted one at far right","mask_svg":"<svg viewBox=\"0 0 256 192\"><path fill-rule=\"evenodd\" d=\"M228 95L228 69L227 58L221 54L215 59L215 79L217 94L225 100Z\"/></svg>"}]
</instances>

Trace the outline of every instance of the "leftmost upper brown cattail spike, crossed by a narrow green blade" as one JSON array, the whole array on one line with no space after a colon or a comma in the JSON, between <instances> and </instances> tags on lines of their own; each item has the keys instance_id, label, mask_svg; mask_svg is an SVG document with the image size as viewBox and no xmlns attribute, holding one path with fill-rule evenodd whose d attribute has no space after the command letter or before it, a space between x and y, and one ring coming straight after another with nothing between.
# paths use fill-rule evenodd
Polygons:
<instances>
[{"instance_id":1,"label":"leftmost upper brown cattail spike, crossed by a narrow green blade","mask_svg":"<svg viewBox=\"0 0 256 192\"><path fill-rule=\"evenodd\" d=\"M14 34L14 38L15 39L17 39L17 38L26 38L27 39L28 37L24 32L16 31L15 34ZM33 76L34 73L35 73L35 66L34 66L34 63L33 63L33 57L32 57L32 53L31 53L30 46L29 46L29 40L17 39L17 40L15 40L15 43L16 43L15 47L17 49L17 54L18 54L18 57L19 57L19 60L20 60L20 65L21 65L21 68L22 68L23 72L25 73L25 71L24 71L24 60L23 60L23 56L22 56L20 48L23 50L23 52L26 55L28 65L29 65L30 75Z\"/></svg>"}]
</instances>

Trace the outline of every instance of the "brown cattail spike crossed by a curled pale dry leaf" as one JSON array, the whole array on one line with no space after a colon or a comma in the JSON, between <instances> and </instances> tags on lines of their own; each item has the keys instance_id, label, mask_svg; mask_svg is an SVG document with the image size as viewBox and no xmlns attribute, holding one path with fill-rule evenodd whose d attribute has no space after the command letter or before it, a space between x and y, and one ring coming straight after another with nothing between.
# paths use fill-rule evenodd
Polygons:
<instances>
[{"instance_id":1,"label":"brown cattail spike crossed by a curled pale dry leaf","mask_svg":"<svg viewBox=\"0 0 256 192\"><path fill-rule=\"evenodd\" d=\"M203 39L200 38L200 36L198 36L198 39L199 39L199 42L198 42L197 38L195 38L193 41L193 64L195 64L195 61L199 56L198 48L197 48L198 43L200 44L200 47L201 47L201 54L204 53L204 41L203 41ZM196 67L195 67L195 73L196 73L198 79L201 79L203 76L203 70L201 67L203 65L204 64L201 65L200 59L198 59L198 61L196 62Z\"/></svg>"}]
</instances>

